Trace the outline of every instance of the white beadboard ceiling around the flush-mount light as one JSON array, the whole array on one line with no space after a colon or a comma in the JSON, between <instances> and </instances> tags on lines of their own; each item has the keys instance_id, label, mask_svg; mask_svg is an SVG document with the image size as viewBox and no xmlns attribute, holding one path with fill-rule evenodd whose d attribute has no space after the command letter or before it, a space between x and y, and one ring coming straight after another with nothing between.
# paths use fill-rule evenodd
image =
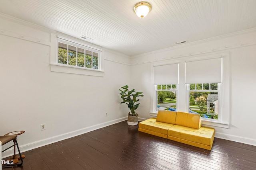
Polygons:
<instances>
[{"instance_id":1,"label":"white beadboard ceiling around the flush-mount light","mask_svg":"<svg viewBox=\"0 0 256 170\"><path fill-rule=\"evenodd\" d=\"M134 56L256 27L256 0L1 0L0 12Z\"/></svg>"}]
</instances>

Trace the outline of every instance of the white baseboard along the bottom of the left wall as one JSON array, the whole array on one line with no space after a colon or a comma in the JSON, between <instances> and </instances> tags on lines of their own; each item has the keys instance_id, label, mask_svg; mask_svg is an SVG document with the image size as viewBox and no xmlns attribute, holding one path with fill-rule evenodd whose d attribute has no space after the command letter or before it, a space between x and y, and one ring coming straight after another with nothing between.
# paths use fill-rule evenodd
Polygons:
<instances>
[{"instance_id":1,"label":"white baseboard along the bottom of the left wall","mask_svg":"<svg viewBox=\"0 0 256 170\"><path fill-rule=\"evenodd\" d=\"M68 138L71 138L71 137L75 137L75 136L78 136L78 135L82 135L84 133L88 133L90 131L94 131L94 130L100 129L102 127L113 125L115 123L119 123L119 122L125 121L125 120L127 120L127 116L122 117L120 119L115 119L115 120L112 120L112 121L108 121L108 122L100 123L100 124L93 125L93 126L90 126L90 127L86 127L86 128L83 128L83 129L78 129L76 131L64 133L64 134L61 134L61 135L56 135L54 137L46 138L46 139L43 139L43 140L40 140L40 141L35 141L35 142L32 142L32 143L21 145L21 146L19 146L20 152L26 152L28 150L43 147L45 145L49 145L49 144L52 144L52 143L55 143L55 142L58 142L58 141L62 141L62 140L65 140L65 139L68 139ZM13 147L11 149L6 150L5 152L2 153L2 158L12 156L13 151L14 151ZM17 149L16 149L16 154L18 154Z\"/></svg>"}]
</instances>

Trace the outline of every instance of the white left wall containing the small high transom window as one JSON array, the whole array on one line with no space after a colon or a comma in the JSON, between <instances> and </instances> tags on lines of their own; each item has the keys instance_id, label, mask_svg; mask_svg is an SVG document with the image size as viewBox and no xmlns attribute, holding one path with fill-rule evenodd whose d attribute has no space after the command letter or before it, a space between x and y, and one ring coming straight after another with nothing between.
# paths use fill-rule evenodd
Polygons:
<instances>
[{"instance_id":1,"label":"white left wall containing the small high transom window","mask_svg":"<svg viewBox=\"0 0 256 170\"><path fill-rule=\"evenodd\" d=\"M22 152L127 119L130 57L105 49L103 77L68 74L51 72L51 48L50 32L0 19L0 134L24 130Z\"/></svg>"}]
</instances>

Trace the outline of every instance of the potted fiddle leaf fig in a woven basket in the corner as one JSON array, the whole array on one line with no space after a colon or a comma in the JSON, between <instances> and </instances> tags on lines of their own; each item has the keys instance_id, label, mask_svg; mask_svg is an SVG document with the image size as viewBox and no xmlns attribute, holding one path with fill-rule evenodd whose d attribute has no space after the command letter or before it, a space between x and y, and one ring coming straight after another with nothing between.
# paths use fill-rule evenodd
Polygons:
<instances>
[{"instance_id":1,"label":"potted fiddle leaf fig in a woven basket in the corner","mask_svg":"<svg viewBox=\"0 0 256 170\"><path fill-rule=\"evenodd\" d=\"M125 103L128 105L128 108L130 109L130 112L128 113L128 125L138 125L138 113L135 112L135 110L139 107L139 103L138 102L140 99L138 99L138 97L143 97L144 95L142 94L142 92L135 92L134 89L129 90L128 85L121 87L121 89L119 89L119 91L121 92L121 98L123 100L122 103ZM135 104L136 103L136 104Z\"/></svg>"}]
</instances>

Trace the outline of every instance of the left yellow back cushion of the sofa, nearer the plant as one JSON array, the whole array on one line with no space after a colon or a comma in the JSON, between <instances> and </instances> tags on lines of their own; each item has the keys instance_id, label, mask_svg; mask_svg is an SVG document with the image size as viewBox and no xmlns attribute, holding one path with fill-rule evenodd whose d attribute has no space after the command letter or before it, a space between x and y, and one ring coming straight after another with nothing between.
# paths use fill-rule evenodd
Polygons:
<instances>
[{"instance_id":1,"label":"left yellow back cushion of the sofa, nearer the plant","mask_svg":"<svg viewBox=\"0 0 256 170\"><path fill-rule=\"evenodd\" d=\"M157 113L156 121L163 123L175 124L176 111L159 110Z\"/></svg>"}]
</instances>

